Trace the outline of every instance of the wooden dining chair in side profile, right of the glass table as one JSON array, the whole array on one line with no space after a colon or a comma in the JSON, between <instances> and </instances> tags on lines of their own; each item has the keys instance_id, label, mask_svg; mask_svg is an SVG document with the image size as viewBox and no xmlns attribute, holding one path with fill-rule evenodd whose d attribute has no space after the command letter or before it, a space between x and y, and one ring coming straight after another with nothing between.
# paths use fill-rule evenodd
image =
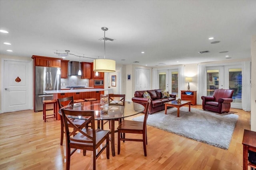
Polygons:
<instances>
[{"instance_id":1,"label":"wooden dining chair in side profile, right of the glass table","mask_svg":"<svg viewBox=\"0 0 256 170\"><path fill-rule=\"evenodd\" d=\"M146 145L148 144L147 139L147 119L148 119L148 107L150 105L151 100L148 99L144 121L130 121L130 120L123 120L120 125L117 127L118 130L118 149L117 154L120 154L120 141L137 141L143 142L143 149L144 149L144 156L147 156ZM121 136L123 133L123 137ZM130 139L125 137L125 133L137 133L142 134L142 139Z\"/></svg>"}]
</instances>

